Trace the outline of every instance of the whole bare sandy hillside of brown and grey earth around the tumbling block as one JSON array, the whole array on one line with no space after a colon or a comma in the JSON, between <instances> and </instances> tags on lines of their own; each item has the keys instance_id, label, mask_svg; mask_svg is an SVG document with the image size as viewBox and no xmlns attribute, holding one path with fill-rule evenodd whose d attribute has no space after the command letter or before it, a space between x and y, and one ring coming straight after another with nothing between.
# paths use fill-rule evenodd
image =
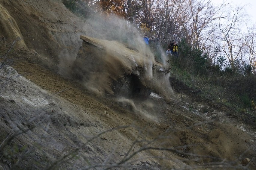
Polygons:
<instances>
[{"instance_id":1,"label":"whole bare sandy hillside of brown and grey earth around the tumbling block","mask_svg":"<svg viewBox=\"0 0 256 170\"><path fill-rule=\"evenodd\" d=\"M246 168L256 168L255 133L230 121L226 113L232 110L196 102L197 92L175 78L170 82L177 98L131 100L94 95L83 84L59 74L64 60L75 60L82 43L79 36L92 31L83 30L85 23L61 1L0 0L0 5L1 55L17 36L17 27L24 38L8 54L14 57L12 67L17 73L13 81L1 86L0 139L12 130L29 128L9 145L32 150L18 163L18 155L24 151L4 150L13 157L1 159L3 169L46 169L76 148L80 149L70 157L77 157L61 162L59 169L93 165L105 169L118 163L123 169L243 169L244 158L251 159ZM10 16L17 23L15 28L6 26ZM2 80L8 79L9 70L1 69ZM121 126L127 127L113 129ZM109 129L113 130L87 143ZM145 150L122 162L140 149Z\"/></svg>"}]
</instances>

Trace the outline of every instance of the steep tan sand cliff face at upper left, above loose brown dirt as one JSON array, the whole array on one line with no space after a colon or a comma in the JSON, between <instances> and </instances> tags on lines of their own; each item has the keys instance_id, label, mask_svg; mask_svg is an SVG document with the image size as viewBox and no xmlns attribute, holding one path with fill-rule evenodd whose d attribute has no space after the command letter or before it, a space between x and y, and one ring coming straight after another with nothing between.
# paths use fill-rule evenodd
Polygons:
<instances>
[{"instance_id":1,"label":"steep tan sand cliff face at upper left, above loose brown dirt","mask_svg":"<svg viewBox=\"0 0 256 170\"><path fill-rule=\"evenodd\" d=\"M0 34L8 42L22 37L18 46L35 50L54 63L58 63L63 52L74 57L74 51L81 43L78 37L84 24L61 0L1 0L0 8Z\"/></svg>"}]
</instances>

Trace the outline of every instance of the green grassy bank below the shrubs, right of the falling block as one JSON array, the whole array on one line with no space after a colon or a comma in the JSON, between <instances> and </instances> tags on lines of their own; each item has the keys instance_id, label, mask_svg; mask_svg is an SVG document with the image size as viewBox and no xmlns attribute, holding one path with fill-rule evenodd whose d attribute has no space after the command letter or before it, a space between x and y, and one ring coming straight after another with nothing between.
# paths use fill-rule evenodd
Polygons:
<instances>
[{"instance_id":1,"label":"green grassy bank below the shrubs, right of the falling block","mask_svg":"<svg viewBox=\"0 0 256 170\"><path fill-rule=\"evenodd\" d=\"M177 62L172 63L170 75L191 89L200 89L200 101L223 106L238 121L256 128L256 104L245 90L240 89L242 80L239 77L194 75Z\"/></svg>"}]
</instances>

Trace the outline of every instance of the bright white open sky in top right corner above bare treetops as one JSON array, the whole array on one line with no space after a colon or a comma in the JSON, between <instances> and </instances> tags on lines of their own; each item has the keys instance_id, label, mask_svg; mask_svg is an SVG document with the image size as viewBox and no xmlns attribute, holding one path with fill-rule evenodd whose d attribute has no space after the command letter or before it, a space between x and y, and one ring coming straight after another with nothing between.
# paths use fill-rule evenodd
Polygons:
<instances>
[{"instance_id":1,"label":"bright white open sky in top right corner above bare treetops","mask_svg":"<svg viewBox=\"0 0 256 170\"><path fill-rule=\"evenodd\" d=\"M212 0L213 4L221 4L224 0ZM232 6L245 6L247 14L251 17L251 20L256 22L256 1L255 0L225 0L225 2L230 3Z\"/></svg>"}]
</instances>

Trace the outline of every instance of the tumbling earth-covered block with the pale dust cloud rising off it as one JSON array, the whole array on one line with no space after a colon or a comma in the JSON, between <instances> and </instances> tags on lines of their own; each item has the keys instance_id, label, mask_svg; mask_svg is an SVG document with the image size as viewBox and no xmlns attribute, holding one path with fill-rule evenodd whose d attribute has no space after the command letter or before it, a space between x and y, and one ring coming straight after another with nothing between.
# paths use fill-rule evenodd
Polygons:
<instances>
[{"instance_id":1,"label":"tumbling earth-covered block with the pale dust cloud rising off it","mask_svg":"<svg viewBox=\"0 0 256 170\"><path fill-rule=\"evenodd\" d=\"M139 113L143 111L136 107L131 94L139 93L137 89L142 89L140 93L148 97L151 92L165 99L174 96L164 52L163 64L157 63L143 40L144 34L132 23L114 15L95 14L78 27L82 28L82 36L90 41L92 47L84 47L81 42L76 59L62 51L62 74L70 77L74 77L71 72L79 74L87 90L96 95L104 95L105 92L116 95L118 102ZM156 64L159 66L155 67ZM122 91L116 90L118 88Z\"/></svg>"}]
</instances>

